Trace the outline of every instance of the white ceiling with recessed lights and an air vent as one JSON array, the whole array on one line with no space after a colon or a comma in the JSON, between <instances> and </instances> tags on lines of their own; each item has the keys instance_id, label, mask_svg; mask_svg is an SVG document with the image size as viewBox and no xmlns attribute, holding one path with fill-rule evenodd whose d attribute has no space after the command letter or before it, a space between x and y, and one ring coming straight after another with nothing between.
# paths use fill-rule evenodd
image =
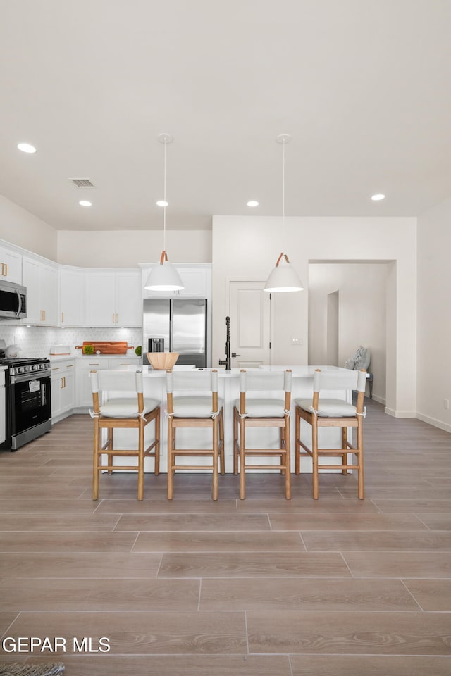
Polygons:
<instances>
[{"instance_id":1,"label":"white ceiling with recessed lights and an air vent","mask_svg":"<svg viewBox=\"0 0 451 676\"><path fill-rule=\"evenodd\" d=\"M0 194L57 230L162 227L161 132L168 228L280 214L281 133L286 215L451 195L450 0L0 0L0 16Z\"/></svg>"}]
</instances>

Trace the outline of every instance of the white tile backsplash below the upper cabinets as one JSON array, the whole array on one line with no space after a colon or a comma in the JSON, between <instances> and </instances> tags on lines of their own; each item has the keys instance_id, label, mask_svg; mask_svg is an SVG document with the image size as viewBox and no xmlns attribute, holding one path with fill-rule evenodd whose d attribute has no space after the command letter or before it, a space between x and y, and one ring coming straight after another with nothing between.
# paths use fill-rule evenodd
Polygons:
<instances>
[{"instance_id":1,"label":"white tile backsplash below the upper cabinets","mask_svg":"<svg viewBox=\"0 0 451 676\"><path fill-rule=\"evenodd\" d=\"M0 323L0 339L6 346L16 345L20 357L47 357L51 345L68 345L70 353L80 355L76 345L82 345L87 340L126 340L129 345L137 347L142 342L142 332L139 328L109 328L109 327L47 327L3 325ZM128 356L135 356L133 350Z\"/></svg>"}]
</instances>

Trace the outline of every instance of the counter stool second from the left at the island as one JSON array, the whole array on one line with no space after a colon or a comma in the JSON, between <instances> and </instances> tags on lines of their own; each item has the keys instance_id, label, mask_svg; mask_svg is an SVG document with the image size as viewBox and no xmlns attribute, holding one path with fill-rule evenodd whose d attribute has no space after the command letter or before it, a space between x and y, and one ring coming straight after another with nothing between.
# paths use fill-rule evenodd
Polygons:
<instances>
[{"instance_id":1,"label":"counter stool second from the left at the island","mask_svg":"<svg viewBox=\"0 0 451 676\"><path fill-rule=\"evenodd\" d=\"M168 397L168 500L173 499L175 470L209 470L212 472L211 497L218 499L218 463L224 463L223 401L218 399L218 371L178 371L166 373ZM174 394L175 392L180 394ZM202 394L201 394L202 393ZM180 427L207 427L211 430L210 448L177 448L176 432ZM200 444L199 444L200 445ZM212 458L208 465L180 465L177 458Z\"/></svg>"}]
</instances>

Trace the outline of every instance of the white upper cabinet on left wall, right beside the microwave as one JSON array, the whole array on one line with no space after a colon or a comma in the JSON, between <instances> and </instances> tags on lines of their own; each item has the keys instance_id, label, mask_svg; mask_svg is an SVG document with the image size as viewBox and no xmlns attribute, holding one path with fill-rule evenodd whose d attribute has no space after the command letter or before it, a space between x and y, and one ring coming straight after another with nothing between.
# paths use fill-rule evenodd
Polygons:
<instances>
[{"instance_id":1,"label":"white upper cabinet on left wall, right beside the microwave","mask_svg":"<svg viewBox=\"0 0 451 676\"><path fill-rule=\"evenodd\" d=\"M58 266L25 256L22 265L22 282L27 287L27 318L22 322L58 325Z\"/></svg>"}]
</instances>

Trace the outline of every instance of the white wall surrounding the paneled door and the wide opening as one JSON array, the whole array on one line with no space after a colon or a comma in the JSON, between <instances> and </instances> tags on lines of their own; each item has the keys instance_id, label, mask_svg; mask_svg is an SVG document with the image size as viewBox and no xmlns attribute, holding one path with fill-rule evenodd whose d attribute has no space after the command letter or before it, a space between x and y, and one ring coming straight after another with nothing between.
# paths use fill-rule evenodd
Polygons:
<instances>
[{"instance_id":1,"label":"white wall surrounding the paneled door and the wide opening","mask_svg":"<svg viewBox=\"0 0 451 676\"><path fill-rule=\"evenodd\" d=\"M283 249L307 288L309 263L395 261L395 287L388 280L390 294L395 288L394 315L388 313L387 325L388 334L393 335L388 359L395 374L387 387L387 409L393 415L415 417L416 218L290 217L285 218L284 233L280 221L259 216L213 218L213 363L223 356L230 278L266 279ZM308 294L274 296L274 363L307 363ZM291 335L301 337L304 344L292 346Z\"/></svg>"}]
</instances>

